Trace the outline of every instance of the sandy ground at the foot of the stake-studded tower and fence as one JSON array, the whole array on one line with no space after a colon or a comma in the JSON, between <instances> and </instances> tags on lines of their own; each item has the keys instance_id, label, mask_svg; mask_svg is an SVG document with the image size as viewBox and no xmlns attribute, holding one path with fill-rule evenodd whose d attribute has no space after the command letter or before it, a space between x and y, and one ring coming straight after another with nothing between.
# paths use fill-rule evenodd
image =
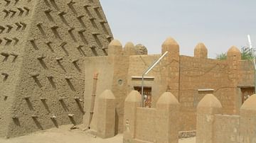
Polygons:
<instances>
[{"instance_id":1,"label":"sandy ground at the foot of the stake-studded tower and fence","mask_svg":"<svg viewBox=\"0 0 256 143\"><path fill-rule=\"evenodd\" d=\"M0 143L122 143L122 135L117 135L110 139L100 139L80 129L69 130L70 127L70 125L65 125L58 129L35 132L31 135L12 139L0 138ZM179 143L196 143L196 139L180 139Z\"/></svg>"}]
</instances>

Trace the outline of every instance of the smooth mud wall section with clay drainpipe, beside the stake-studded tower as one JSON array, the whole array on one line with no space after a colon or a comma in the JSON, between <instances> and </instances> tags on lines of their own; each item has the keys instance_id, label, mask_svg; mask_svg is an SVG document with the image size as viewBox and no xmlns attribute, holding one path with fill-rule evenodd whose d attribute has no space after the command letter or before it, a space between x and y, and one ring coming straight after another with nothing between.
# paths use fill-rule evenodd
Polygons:
<instances>
[{"instance_id":1,"label":"smooth mud wall section with clay drainpipe, beside the stake-studded tower","mask_svg":"<svg viewBox=\"0 0 256 143\"><path fill-rule=\"evenodd\" d=\"M84 108L85 115L83 116L83 125L85 128L89 126L90 112L92 105L92 88L94 74L98 74L96 84L96 96L95 105L92 115L92 122L90 128L92 130L97 129L97 108L98 99L100 94L106 89L112 88L112 81L114 76L114 63L113 57L90 57L85 59L85 65L88 67L85 69L85 94L84 94Z\"/></svg>"}]
</instances>

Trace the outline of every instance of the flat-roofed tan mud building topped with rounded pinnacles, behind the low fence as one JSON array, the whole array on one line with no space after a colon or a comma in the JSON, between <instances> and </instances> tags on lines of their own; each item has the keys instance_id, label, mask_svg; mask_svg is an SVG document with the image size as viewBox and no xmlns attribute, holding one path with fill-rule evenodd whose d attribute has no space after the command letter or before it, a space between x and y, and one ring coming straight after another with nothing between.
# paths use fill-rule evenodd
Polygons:
<instances>
[{"instance_id":1,"label":"flat-roofed tan mud building topped with rounded pinnacles, behind the low fence","mask_svg":"<svg viewBox=\"0 0 256 143\"><path fill-rule=\"evenodd\" d=\"M230 47L225 60L208 59L208 50L203 43L195 47L194 57L179 54L179 45L173 38L167 38L162 45L162 54L169 53L144 77L144 95L147 108L156 108L159 96L169 91L181 104L180 131L196 130L196 107L207 93L214 93L223 105L223 114L238 115L240 106L254 92L254 67L252 62L241 60L237 47ZM109 55L85 59L85 110L92 105L93 76L97 74L95 110L84 115L84 124L97 128L97 96L110 89L117 102L115 132L124 130L124 101L133 91L141 92L142 74L161 55L142 55L132 42L124 47L118 40L109 45ZM90 112L92 112L90 110ZM146 119L145 119L146 120Z\"/></svg>"}]
</instances>

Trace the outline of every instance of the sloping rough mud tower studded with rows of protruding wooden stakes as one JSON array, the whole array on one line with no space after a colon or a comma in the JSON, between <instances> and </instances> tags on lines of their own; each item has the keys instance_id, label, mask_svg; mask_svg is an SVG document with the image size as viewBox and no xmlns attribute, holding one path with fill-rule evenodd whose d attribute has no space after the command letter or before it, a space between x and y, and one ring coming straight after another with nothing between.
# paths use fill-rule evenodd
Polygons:
<instances>
[{"instance_id":1,"label":"sloping rough mud tower studded with rows of protruding wooden stakes","mask_svg":"<svg viewBox=\"0 0 256 143\"><path fill-rule=\"evenodd\" d=\"M0 1L0 137L82 122L84 57L107 55L99 0Z\"/></svg>"}]
</instances>

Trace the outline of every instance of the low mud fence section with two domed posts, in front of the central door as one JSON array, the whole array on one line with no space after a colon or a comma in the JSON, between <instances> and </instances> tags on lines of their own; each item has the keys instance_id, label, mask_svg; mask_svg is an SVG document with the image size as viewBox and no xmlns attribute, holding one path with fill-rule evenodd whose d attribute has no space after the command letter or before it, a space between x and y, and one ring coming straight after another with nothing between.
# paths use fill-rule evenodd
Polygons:
<instances>
[{"instance_id":1,"label":"low mud fence section with two domed posts, in front of the central door","mask_svg":"<svg viewBox=\"0 0 256 143\"><path fill-rule=\"evenodd\" d=\"M138 91L131 91L125 100L123 142L178 142L176 115L180 104L176 97L165 92L156 108L141 108L141 96Z\"/></svg>"}]
</instances>

